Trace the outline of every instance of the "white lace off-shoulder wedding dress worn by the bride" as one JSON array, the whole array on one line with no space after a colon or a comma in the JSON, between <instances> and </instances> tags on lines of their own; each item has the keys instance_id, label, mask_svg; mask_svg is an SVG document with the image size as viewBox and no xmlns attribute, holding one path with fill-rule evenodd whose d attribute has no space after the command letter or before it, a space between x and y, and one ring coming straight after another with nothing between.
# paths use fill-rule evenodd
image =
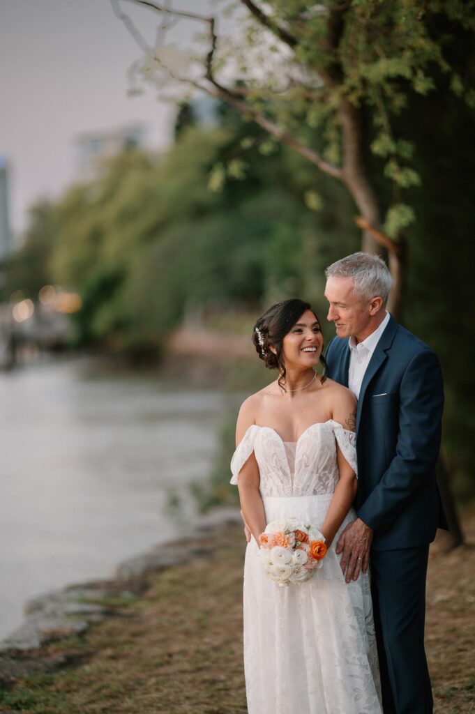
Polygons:
<instances>
[{"instance_id":1,"label":"white lace off-shoulder wedding dress worn by the bride","mask_svg":"<svg viewBox=\"0 0 475 714\"><path fill-rule=\"evenodd\" d=\"M254 451L266 521L324 523L339 479L336 443L356 472L355 435L336 421L310 426L296 443L250 426L231 461ZM341 528L355 518L346 516ZM259 563L254 538L244 565L244 668L249 714L381 714L369 575L347 584L335 553L305 583L279 587Z\"/></svg>"}]
</instances>

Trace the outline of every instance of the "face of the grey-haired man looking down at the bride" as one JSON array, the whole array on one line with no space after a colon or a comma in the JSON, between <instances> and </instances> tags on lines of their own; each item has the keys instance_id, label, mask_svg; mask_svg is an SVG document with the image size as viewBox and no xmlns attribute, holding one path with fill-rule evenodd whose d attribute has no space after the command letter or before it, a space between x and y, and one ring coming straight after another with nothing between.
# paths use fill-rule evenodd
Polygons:
<instances>
[{"instance_id":1,"label":"face of the grey-haired man looking down at the bride","mask_svg":"<svg viewBox=\"0 0 475 714\"><path fill-rule=\"evenodd\" d=\"M361 342L371 333L369 303L355 294L351 278L329 278L325 297L330 303L327 319L335 323L337 336L352 335Z\"/></svg>"}]
</instances>

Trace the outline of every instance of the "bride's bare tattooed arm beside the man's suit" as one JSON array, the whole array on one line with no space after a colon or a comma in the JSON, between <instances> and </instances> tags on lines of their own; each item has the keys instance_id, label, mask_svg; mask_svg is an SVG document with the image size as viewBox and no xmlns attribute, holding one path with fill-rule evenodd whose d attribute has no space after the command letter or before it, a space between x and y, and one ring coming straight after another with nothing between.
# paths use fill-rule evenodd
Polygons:
<instances>
[{"instance_id":1,"label":"bride's bare tattooed arm beside the man's suit","mask_svg":"<svg viewBox=\"0 0 475 714\"><path fill-rule=\"evenodd\" d=\"M338 421L345 429L351 430L356 418L356 399L353 394L347 390L340 393L332 411L334 421ZM326 545L330 545L333 541L336 531L343 523L346 513L348 513L356 496L356 474L348 461L346 461L346 458L344 458L338 444L336 445L336 459L340 478L336 484L329 510L326 513L324 525L321 527L321 533L325 536Z\"/></svg>"}]
</instances>

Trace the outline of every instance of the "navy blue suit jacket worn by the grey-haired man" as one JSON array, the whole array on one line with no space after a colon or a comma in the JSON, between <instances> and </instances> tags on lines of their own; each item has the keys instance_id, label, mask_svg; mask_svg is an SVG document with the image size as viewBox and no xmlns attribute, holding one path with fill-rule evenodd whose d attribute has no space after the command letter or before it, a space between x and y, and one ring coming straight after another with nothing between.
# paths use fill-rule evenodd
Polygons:
<instances>
[{"instance_id":1,"label":"navy blue suit jacket worn by the grey-haired man","mask_svg":"<svg viewBox=\"0 0 475 714\"><path fill-rule=\"evenodd\" d=\"M348 338L326 351L329 376L348 386ZM374 550L426 545L446 519L436 485L444 386L436 353L389 319L364 375L356 412L356 512Z\"/></svg>"}]
</instances>

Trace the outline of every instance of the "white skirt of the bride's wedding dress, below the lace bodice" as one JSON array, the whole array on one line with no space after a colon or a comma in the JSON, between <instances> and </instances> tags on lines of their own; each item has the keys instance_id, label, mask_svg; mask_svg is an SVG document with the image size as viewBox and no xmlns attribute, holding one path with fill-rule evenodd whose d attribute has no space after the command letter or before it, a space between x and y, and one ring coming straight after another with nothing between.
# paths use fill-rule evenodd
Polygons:
<instances>
[{"instance_id":1,"label":"white skirt of the bride's wedding dress, below the lace bodice","mask_svg":"<svg viewBox=\"0 0 475 714\"><path fill-rule=\"evenodd\" d=\"M321 528L333 493L263 496L266 521L294 516ZM340 531L355 518L350 511ZM339 532L340 532L339 531ZM335 546L304 583L280 587L244 565L244 668L249 714L381 714L369 573L346 583Z\"/></svg>"}]
</instances>

